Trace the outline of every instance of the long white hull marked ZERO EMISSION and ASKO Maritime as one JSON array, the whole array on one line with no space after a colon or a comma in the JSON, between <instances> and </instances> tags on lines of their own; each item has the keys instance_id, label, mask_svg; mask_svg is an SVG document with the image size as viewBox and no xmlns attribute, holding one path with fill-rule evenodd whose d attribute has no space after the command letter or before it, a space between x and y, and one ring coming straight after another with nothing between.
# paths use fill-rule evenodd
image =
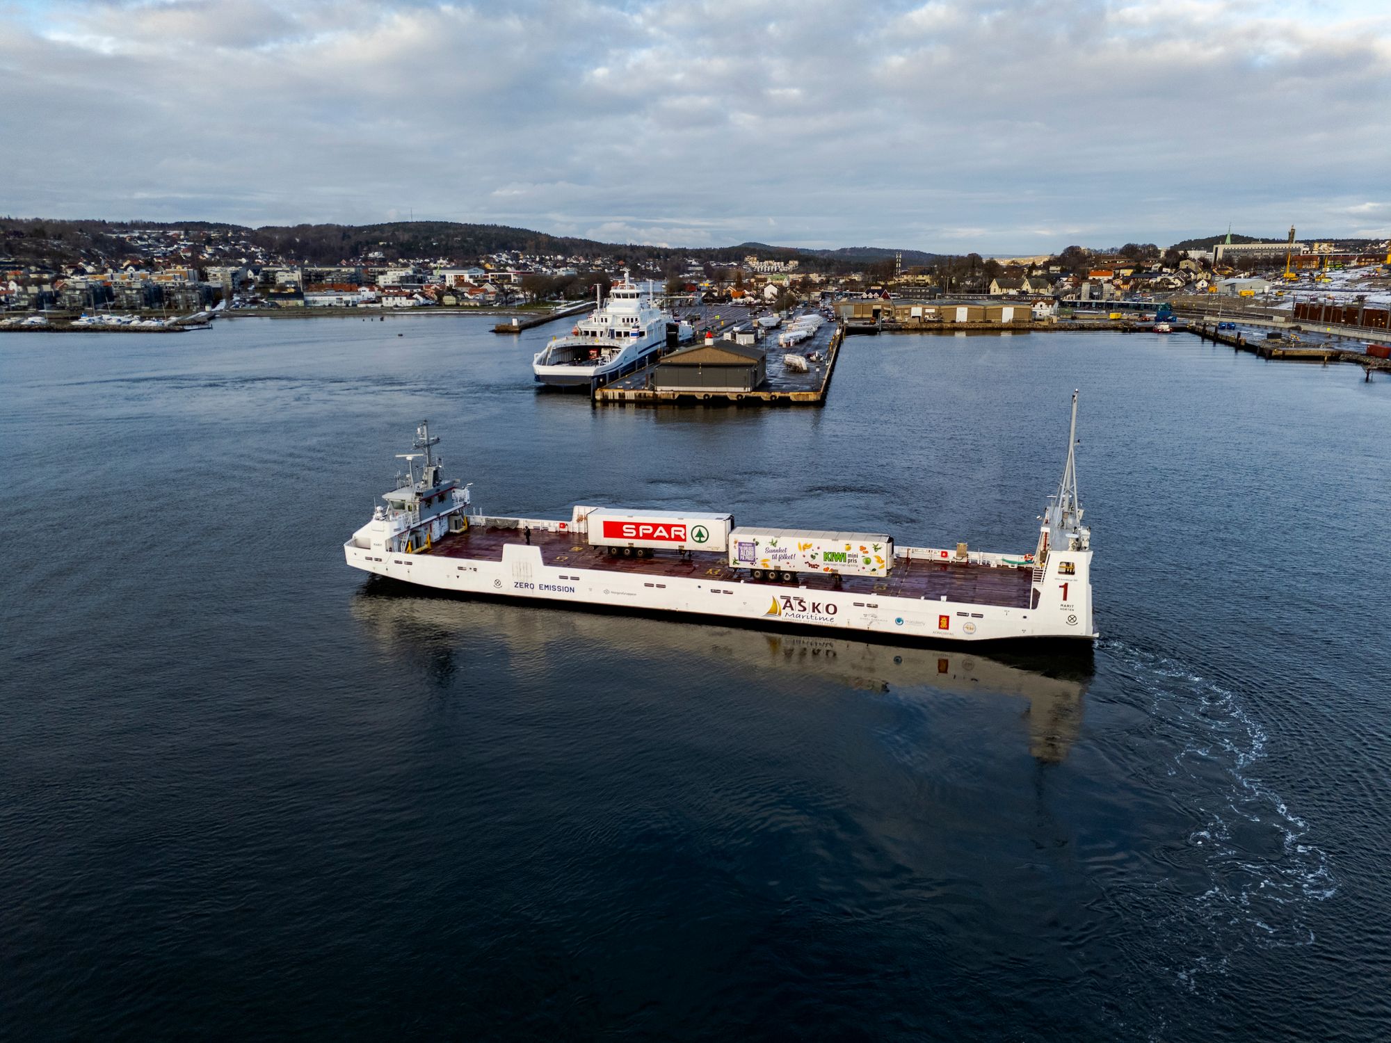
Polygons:
<instances>
[{"instance_id":1,"label":"long white hull marked ZERO EMISSION and ASKO Maritime","mask_svg":"<svg viewBox=\"0 0 1391 1043\"><path fill-rule=\"evenodd\" d=\"M1018 638L1084 638L1097 634L1092 626L1091 551L1049 555L1047 567L1034 572L1035 591L1029 605L993 605L922 597L893 597L865 590L823 590L807 585L764 583L746 579L708 579L664 574L651 570L627 572L606 567L547 565L541 547L524 542L522 528L538 537L563 531L565 523L519 519L470 519L515 526L516 541L505 542L501 560L441 555L403 553L380 547L360 547L359 538L344 545L348 565L403 583L455 591L465 595L530 598L568 605L598 606L662 615L686 613L769 627L812 627L871 634L886 640L1002 641ZM438 535L447 540L448 526ZM363 533L359 537L364 535ZM370 540L370 542L376 542ZM946 555L946 551L907 548L897 563L917 555ZM907 555L907 558L906 558ZM718 555L709 555L711 565ZM932 559L929 558L929 560ZM989 565L1000 555L976 555L978 565L960 569L1010 567ZM638 566L641 567L641 566ZM1068 567L1071 570L1068 570Z\"/></svg>"}]
</instances>

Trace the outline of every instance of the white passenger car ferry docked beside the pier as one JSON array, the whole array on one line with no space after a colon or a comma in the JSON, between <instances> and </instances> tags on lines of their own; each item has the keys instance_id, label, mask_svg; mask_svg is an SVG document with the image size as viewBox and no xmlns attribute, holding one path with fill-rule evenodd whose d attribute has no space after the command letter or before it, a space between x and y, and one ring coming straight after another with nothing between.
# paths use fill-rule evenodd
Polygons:
<instances>
[{"instance_id":1,"label":"white passenger car ferry docked beside the pier","mask_svg":"<svg viewBox=\"0 0 1391 1043\"><path fill-rule=\"evenodd\" d=\"M636 370L659 353L672 321L670 312L657 303L652 284L640 285L625 273L601 307L536 353L531 373L537 384L588 389L597 381ZM689 337L690 328L683 332Z\"/></svg>"}]
</instances>

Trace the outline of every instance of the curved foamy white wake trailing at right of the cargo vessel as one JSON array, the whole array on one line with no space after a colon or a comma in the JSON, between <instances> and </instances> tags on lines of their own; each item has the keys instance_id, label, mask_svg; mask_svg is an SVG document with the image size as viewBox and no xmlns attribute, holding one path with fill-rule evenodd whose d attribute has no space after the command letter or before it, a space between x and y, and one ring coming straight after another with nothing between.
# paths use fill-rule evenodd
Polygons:
<instances>
[{"instance_id":1,"label":"curved foamy white wake trailing at right of the cargo vessel","mask_svg":"<svg viewBox=\"0 0 1391 1043\"><path fill-rule=\"evenodd\" d=\"M1120 641L1100 642L1099 655L1145 697L1155 741L1174 750L1167 766L1174 800L1202 823L1180 861L1203 873L1206 887L1156 923L1161 958L1177 961L1170 965L1178 983L1196 992L1205 975L1225 973L1242 948L1312 944L1310 905L1333 897L1337 882L1327 855L1308 841L1308 822L1262 780L1266 733L1244 700L1171 658Z\"/></svg>"}]
</instances>

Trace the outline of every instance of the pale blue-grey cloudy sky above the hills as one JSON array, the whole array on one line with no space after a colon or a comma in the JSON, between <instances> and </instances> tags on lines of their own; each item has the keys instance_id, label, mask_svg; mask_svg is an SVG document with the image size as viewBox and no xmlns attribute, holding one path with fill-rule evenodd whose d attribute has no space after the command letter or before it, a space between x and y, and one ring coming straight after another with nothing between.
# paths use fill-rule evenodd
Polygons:
<instances>
[{"instance_id":1,"label":"pale blue-grey cloudy sky above the hills","mask_svg":"<svg viewBox=\"0 0 1391 1043\"><path fill-rule=\"evenodd\" d=\"M0 213L1391 234L1391 0L0 0Z\"/></svg>"}]
</instances>

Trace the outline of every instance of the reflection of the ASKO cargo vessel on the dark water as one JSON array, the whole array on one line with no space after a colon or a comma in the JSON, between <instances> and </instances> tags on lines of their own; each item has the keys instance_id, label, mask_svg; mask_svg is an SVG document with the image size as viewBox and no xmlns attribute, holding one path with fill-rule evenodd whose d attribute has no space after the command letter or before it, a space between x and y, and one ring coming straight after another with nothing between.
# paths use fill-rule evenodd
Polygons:
<instances>
[{"instance_id":1,"label":"reflection of the ASKO cargo vessel on the dark water","mask_svg":"<svg viewBox=\"0 0 1391 1043\"><path fill-rule=\"evenodd\" d=\"M871 693L932 691L1020 700L1029 752L1045 763L1067 758L1082 725L1092 680L1089 654L990 648L921 648L830 634L787 634L737 626L615 616L551 605L459 599L445 592L369 577L351 602L362 629L392 655L423 663L438 684L462 669L469 645L487 644L510 658L537 661L576 644L605 654L670 656L683 669L701 658L725 669L773 668ZM1091 651L1088 644L1085 652Z\"/></svg>"}]
</instances>

